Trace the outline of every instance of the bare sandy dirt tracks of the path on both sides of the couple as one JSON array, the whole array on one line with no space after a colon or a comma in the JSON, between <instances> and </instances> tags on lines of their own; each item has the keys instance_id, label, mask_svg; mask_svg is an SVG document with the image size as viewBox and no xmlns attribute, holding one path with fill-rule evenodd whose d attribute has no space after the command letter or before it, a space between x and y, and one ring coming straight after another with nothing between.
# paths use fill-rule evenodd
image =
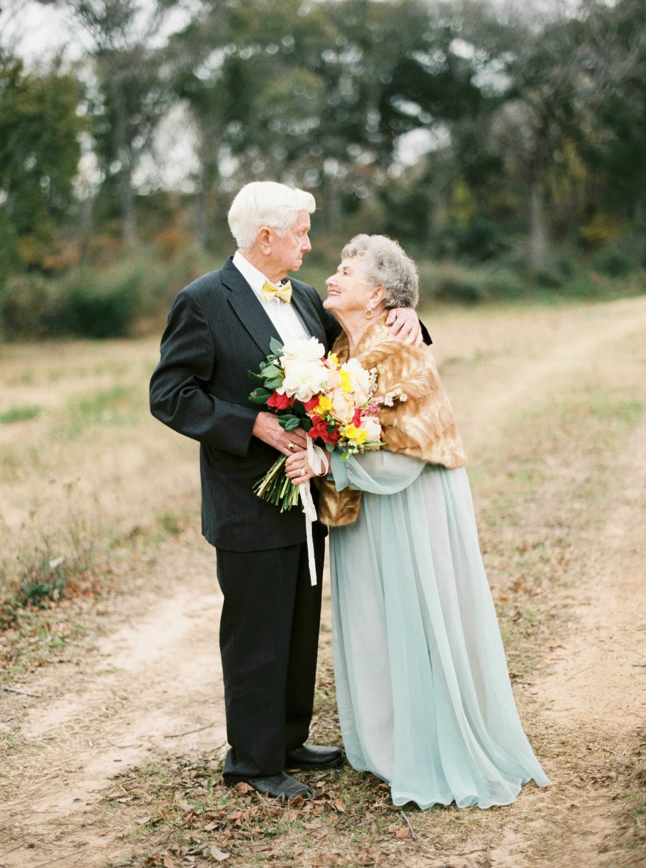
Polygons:
<instances>
[{"instance_id":1,"label":"bare sandy dirt tracks of the path on both sides of the couple","mask_svg":"<svg viewBox=\"0 0 646 868\"><path fill-rule=\"evenodd\" d=\"M495 437L511 408L538 401L554 378L576 376L604 346L640 331L646 332L646 302L620 302L603 322L563 336L556 352L537 349L524 364L504 368L497 383L472 383L468 404L460 404L464 396L454 398L464 409L472 450ZM646 428L633 437L617 473L626 482L611 521L581 552L595 565L584 599L562 592L573 615L569 638L548 653L551 674L521 698L524 713L545 727L545 766L554 786L519 799L504 840L491 851L495 868L612 865L604 853L615 824L608 764L646 717L646 667L633 666L646 658ZM23 745L10 759L0 865L93 868L108 857L126 858L118 826L85 822L108 777L159 753L224 746L214 556L188 540L168 554L160 572L165 590L118 602L108 635L95 641L87 662L49 667L29 679L29 691L42 693L42 700L3 694L2 726L20 724L16 738ZM187 734L167 738L178 733ZM561 744L569 745L566 762ZM608 792L586 782L591 768L610 775Z\"/></svg>"}]
</instances>

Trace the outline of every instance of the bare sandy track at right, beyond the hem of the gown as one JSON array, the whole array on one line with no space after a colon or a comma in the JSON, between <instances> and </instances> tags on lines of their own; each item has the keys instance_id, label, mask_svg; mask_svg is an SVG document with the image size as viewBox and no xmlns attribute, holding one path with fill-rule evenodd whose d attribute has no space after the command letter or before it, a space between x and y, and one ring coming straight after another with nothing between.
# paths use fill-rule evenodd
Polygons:
<instances>
[{"instance_id":1,"label":"bare sandy track at right, beyond the hem of the gown","mask_svg":"<svg viewBox=\"0 0 646 868\"><path fill-rule=\"evenodd\" d=\"M551 755L548 791L527 792L521 817L498 848L505 868L601 868L646 864L613 852L617 773L636 727L646 719L646 424L617 466L623 478L604 532L582 553L590 578L565 590L568 637L545 655L547 674L529 705L545 729ZM642 665L638 665L642 664Z\"/></svg>"}]
</instances>

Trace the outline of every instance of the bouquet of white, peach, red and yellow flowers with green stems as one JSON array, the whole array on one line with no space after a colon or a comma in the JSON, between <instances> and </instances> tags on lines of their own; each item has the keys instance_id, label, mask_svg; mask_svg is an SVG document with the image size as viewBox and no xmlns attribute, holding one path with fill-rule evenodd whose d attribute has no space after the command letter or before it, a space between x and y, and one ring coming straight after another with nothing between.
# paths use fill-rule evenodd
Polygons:
<instances>
[{"instance_id":1,"label":"bouquet of white, peach, red and yellow flowers with green stems","mask_svg":"<svg viewBox=\"0 0 646 868\"><path fill-rule=\"evenodd\" d=\"M316 338L301 338L282 345L271 339L271 355L258 372L249 372L257 383L249 399L277 413L285 431L303 428L312 440L319 438L331 452L343 450L342 461L366 449L382 446L382 426L376 413L382 405L406 400L401 391L375 395L380 368L366 371L356 358L343 365ZM254 486L258 497L290 510L298 503L299 486L285 476L286 457L281 455L265 477Z\"/></svg>"}]
</instances>

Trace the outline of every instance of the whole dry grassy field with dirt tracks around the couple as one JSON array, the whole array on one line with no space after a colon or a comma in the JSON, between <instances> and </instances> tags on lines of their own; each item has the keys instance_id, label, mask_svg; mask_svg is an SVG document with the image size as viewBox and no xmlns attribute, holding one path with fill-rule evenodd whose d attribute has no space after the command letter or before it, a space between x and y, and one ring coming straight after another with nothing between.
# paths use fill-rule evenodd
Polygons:
<instances>
[{"instance_id":1,"label":"whole dry grassy field with dirt tracks around the couple","mask_svg":"<svg viewBox=\"0 0 646 868\"><path fill-rule=\"evenodd\" d=\"M311 811L225 790L197 444L147 411L157 341L5 345L0 647L5 686L26 692L3 694L9 868L207 865L211 848L303 868L646 864L646 299L424 319L553 786L405 817L349 768L317 782ZM320 659L323 742L339 739L327 611Z\"/></svg>"}]
</instances>

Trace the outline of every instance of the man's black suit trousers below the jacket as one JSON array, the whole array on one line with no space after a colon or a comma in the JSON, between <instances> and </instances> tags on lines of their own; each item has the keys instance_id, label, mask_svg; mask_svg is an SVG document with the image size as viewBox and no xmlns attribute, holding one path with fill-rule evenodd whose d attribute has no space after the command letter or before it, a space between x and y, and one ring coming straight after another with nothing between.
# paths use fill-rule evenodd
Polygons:
<instances>
[{"instance_id":1,"label":"man's black suit trousers below the jacket","mask_svg":"<svg viewBox=\"0 0 646 868\"><path fill-rule=\"evenodd\" d=\"M225 777L282 772L285 752L310 730L321 620L325 539L315 523L316 587L307 545L217 549L225 595L220 651L225 681Z\"/></svg>"}]
</instances>

